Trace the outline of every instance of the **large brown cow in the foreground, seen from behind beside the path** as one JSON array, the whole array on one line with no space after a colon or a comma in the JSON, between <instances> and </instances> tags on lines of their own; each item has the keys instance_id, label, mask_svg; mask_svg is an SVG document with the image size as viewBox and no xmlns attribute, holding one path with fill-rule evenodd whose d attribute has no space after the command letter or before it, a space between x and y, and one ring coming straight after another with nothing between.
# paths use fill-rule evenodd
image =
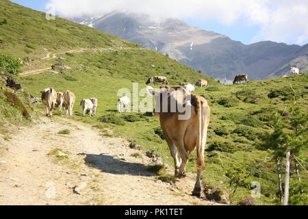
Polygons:
<instances>
[{"instance_id":1,"label":"large brown cow in the foreground, seen from behind beside the path","mask_svg":"<svg viewBox=\"0 0 308 219\"><path fill-rule=\"evenodd\" d=\"M192 194L200 196L201 172L205 168L204 151L210 116L207 101L202 96L188 94L179 86L170 89L160 88L155 90L152 87L147 87L146 89L149 94L156 96L158 101L156 103L160 102L159 105L155 106L155 111L159 111L160 125L175 161L175 177L185 177L188 157L196 149L197 179ZM189 95L191 100L187 101ZM188 119L180 120L179 116L183 116L184 113L179 112L178 107L176 109L172 107L171 103L175 102L178 107L185 107L185 112L190 111ZM171 110L172 108L173 110Z\"/></svg>"}]
</instances>

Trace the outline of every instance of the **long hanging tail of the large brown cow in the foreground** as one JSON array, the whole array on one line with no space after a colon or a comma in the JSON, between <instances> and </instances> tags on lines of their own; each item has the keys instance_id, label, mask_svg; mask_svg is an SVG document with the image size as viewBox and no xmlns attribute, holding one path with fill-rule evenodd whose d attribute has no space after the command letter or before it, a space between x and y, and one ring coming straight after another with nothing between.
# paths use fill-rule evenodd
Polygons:
<instances>
[{"instance_id":1,"label":"long hanging tail of the large brown cow in the foreground","mask_svg":"<svg viewBox=\"0 0 308 219\"><path fill-rule=\"evenodd\" d=\"M207 115L209 113L207 106L203 105L203 101L198 99L197 104L197 115L198 115L198 145L197 145L197 170L204 170L205 161L204 161L204 151L205 144L207 141L207 125L208 119Z\"/></svg>"}]
</instances>

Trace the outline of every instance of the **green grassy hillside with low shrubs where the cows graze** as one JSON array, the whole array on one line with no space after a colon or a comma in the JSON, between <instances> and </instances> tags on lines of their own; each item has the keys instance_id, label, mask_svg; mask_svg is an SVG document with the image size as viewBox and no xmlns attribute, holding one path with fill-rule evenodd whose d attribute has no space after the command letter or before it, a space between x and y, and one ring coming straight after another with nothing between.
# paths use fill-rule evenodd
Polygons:
<instances>
[{"instance_id":1,"label":"green grassy hillside with low shrubs where the cows graze","mask_svg":"<svg viewBox=\"0 0 308 219\"><path fill-rule=\"evenodd\" d=\"M0 40L5 42L0 44L0 53L25 60L27 57L33 57L31 62L26 62L24 70L56 64L53 72L19 78L26 92L40 96L40 91L48 87L62 92L66 90L75 92L77 101L74 108L75 116L72 119L81 120L101 129L103 136L127 138L133 144L139 144L142 150L159 155L166 164L172 166L168 146L161 138L159 119L141 112L116 113L117 92L120 88L129 88L132 91L133 82L139 82L140 89L145 88L144 82L149 76L164 75L170 79L172 85L176 85L183 81L194 83L203 77L201 73L165 55L143 49L90 27L61 18L46 21L42 12L23 8L10 1L0 0L0 2L1 5L5 4L5 7L0 8L1 12L6 13L5 16L0 13L0 21L8 18L6 25L0 25ZM11 13L8 13L9 10ZM13 29L10 25L13 21L18 28L25 28L25 32L18 28ZM22 27L21 23L25 23L25 27ZM62 34L59 36L50 34L49 28L42 29L42 25L57 29ZM34 37L36 39L33 39ZM33 48L27 47L27 44ZM44 48L53 54L72 49L87 49L80 53L56 55L61 56L61 59L55 57L42 60L47 53ZM63 65L70 68L58 67ZM231 201L236 204L251 197L249 185L253 181L258 181L261 183L262 196L257 199L257 203L277 204L276 166L269 153L258 151L255 144L259 142L261 133L270 131L268 116L272 112L283 112L285 106L289 104L292 99L291 85L301 95L298 104L307 110L308 75L249 81L236 86L224 86L214 79L207 79L209 88L196 90L196 94L205 96L209 101L212 112L204 181L229 191L227 172L230 168L234 168L233 165L241 166L246 170L248 178L241 183L238 192L231 196ZM99 99L97 116L82 117L79 106L81 99L93 96ZM140 100L143 98L140 96ZM5 109L7 107L0 107L0 115ZM40 116L45 114L42 105L36 105L34 110ZM19 116L20 114L21 112ZM55 116L60 115L56 112ZM6 120L14 118L10 115L3 117ZM303 154L303 159L305 157L307 152ZM188 164L188 170L191 172L195 171L195 160L196 156L193 153ZM296 177L292 175L292 181L294 179ZM303 175L303 179L307 180L307 175Z\"/></svg>"}]
</instances>

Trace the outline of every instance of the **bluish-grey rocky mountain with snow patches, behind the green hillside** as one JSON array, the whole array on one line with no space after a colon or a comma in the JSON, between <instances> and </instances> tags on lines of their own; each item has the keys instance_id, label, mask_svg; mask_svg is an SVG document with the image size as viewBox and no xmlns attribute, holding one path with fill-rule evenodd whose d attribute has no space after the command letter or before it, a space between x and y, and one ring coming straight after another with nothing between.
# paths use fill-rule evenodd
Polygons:
<instances>
[{"instance_id":1,"label":"bluish-grey rocky mountain with snow patches, behind the green hillside","mask_svg":"<svg viewBox=\"0 0 308 219\"><path fill-rule=\"evenodd\" d=\"M178 19L152 21L144 14L112 12L73 21L168 54L179 62L202 70L209 77L231 80L238 73L250 79L281 77L290 66L307 69L308 46L277 42L242 44Z\"/></svg>"}]
</instances>

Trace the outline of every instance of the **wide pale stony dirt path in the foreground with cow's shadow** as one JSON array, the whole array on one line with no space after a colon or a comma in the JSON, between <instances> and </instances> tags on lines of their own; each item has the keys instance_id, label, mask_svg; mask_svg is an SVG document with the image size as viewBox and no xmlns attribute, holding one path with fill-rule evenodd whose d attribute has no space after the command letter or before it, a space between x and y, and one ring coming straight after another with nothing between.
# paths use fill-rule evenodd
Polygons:
<instances>
[{"instance_id":1,"label":"wide pale stony dirt path in the foreground with cow's shadow","mask_svg":"<svg viewBox=\"0 0 308 219\"><path fill-rule=\"evenodd\" d=\"M0 205L216 205L190 196L194 175L159 181L126 140L68 118L42 118L0 144Z\"/></svg>"}]
</instances>

